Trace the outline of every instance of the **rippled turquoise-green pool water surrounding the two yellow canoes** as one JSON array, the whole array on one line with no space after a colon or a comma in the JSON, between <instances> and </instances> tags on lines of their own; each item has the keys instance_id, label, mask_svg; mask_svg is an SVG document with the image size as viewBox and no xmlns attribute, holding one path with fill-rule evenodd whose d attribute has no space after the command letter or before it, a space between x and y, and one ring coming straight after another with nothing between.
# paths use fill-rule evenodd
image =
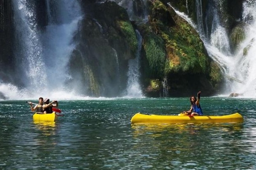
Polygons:
<instances>
[{"instance_id":1,"label":"rippled turquoise-green pool water surrounding the two yellow canoes","mask_svg":"<svg viewBox=\"0 0 256 170\"><path fill-rule=\"evenodd\" d=\"M202 97L205 115L239 112L244 123L131 126L136 112L188 110L189 97L59 101L55 124L33 122L25 101L0 101L0 169L255 170L255 105Z\"/></svg>"}]
</instances>

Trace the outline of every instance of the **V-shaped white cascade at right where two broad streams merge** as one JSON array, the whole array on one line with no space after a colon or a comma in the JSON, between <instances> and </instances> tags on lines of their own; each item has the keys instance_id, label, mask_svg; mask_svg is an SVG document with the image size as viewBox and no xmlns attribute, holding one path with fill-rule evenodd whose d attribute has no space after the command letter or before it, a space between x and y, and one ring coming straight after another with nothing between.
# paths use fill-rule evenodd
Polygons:
<instances>
[{"instance_id":1,"label":"V-shaped white cascade at right where two broad streams merge","mask_svg":"<svg viewBox=\"0 0 256 170\"><path fill-rule=\"evenodd\" d=\"M212 20L212 31L210 40L201 37L208 50L208 54L214 61L217 61L227 78L226 94L240 93L244 97L255 97L256 92L256 2L245 1L243 4L242 22L247 25L246 39L240 44L239 50L231 54L230 42L224 25L219 22L221 15L222 1L213 0L212 10L209 10ZM218 4L217 4L218 3ZM219 9L217 9L219 8ZM219 11L219 12L218 12ZM200 16L198 11L198 15ZM219 14L220 13L220 14ZM198 30L200 31L200 29ZM202 34L199 32L199 34ZM244 55L244 50L247 54ZM231 79L231 80L230 80Z\"/></svg>"}]
</instances>

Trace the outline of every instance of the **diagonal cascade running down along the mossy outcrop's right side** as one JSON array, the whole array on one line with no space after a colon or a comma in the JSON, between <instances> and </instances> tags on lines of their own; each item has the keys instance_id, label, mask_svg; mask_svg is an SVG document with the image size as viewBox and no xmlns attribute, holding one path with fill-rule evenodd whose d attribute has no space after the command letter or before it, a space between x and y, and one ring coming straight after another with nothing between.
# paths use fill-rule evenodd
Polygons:
<instances>
[{"instance_id":1,"label":"diagonal cascade running down along the mossy outcrop's right side","mask_svg":"<svg viewBox=\"0 0 256 170\"><path fill-rule=\"evenodd\" d=\"M201 16L202 16L202 9L201 7L201 0L197 0L196 5L197 7L197 18L198 18L198 24L195 25L189 17L187 17L186 14L180 13L179 11L175 10L175 12L180 15L182 18L188 21L188 23L193 26L198 34L201 36L202 41L204 42L205 48L208 51L209 56L219 63L221 66L224 75L226 75L226 82L227 87L230 87L233 83L232 81L229 81L228 79L236 80L235 83L241 83L239 79L234 78L235 76L231 75L230 68L234 66L234 57L231 56L231 50L230 50L230 43L228 41L228 35L226 32L226 29L224 25L220 23L219 15L221 13L222 8L222 1L219 2L217 0L213 0L212 4L210 5L210 9L208 9L208 14L206 16L206 21L212 23L211 30L209 32L208 27L206 31L203 30L203 22L201 22ZM170 5L170 4L169 4ZM170 5L171 6L171 5ZM220 11L220 12L219 12ZM208 35L210 33L210 35ZM231 93L230 88L226 88L226 93Z\"/></svg>"}]
</instances>

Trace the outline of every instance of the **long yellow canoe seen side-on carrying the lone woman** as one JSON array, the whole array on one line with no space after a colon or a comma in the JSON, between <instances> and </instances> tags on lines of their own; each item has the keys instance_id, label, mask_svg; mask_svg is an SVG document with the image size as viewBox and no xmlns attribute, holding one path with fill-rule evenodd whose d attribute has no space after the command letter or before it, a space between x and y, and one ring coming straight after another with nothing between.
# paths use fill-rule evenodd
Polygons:
<instances>
[{"instance_id":1,"label":"long yellow canoe seen side-on carrying the lone woman","mask_svg":"<svg viewBox=\"0 0 256 170\"><path fill-rule=\"evenodd\" d=\"M234 113L225 116L164 116L136 113L131 124L176 124L176 123L242 123L242 115Z\"/></svg>"}]
</instances>

